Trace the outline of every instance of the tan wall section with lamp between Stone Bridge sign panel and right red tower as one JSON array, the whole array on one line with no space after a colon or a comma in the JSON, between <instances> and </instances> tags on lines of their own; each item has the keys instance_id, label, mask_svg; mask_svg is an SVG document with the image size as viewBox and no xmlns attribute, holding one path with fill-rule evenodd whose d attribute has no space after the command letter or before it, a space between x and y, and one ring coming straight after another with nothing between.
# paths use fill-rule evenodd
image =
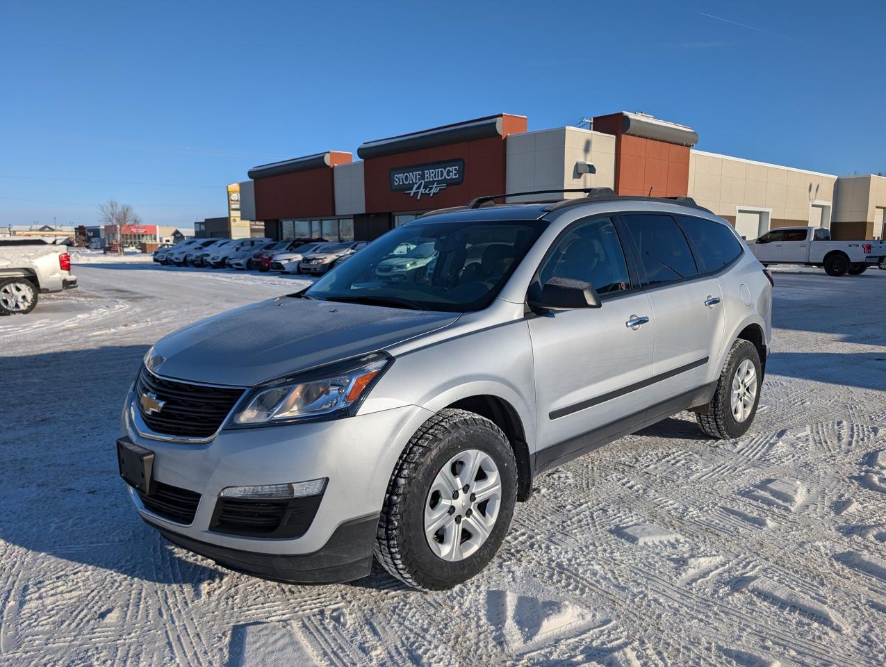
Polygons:
<instances>
[{"instance_id":1,"label":"tan wall section with lamp between Stone Bridge sign panel and right red tower","mask_svg":"<svg viewBox=\"0 0 886 667\"><path fill-rule=\"evenodd\" d=\"M582 128L552 128L509 135L506 141L507 192L615 186L615 136ZM596 173L577 174L575 166L579 161L593 162ZM579 192L563 195L565 198L581 196ZM539 198L543 197L508 200L532 201Z\"/></svg>"}]
</instances>

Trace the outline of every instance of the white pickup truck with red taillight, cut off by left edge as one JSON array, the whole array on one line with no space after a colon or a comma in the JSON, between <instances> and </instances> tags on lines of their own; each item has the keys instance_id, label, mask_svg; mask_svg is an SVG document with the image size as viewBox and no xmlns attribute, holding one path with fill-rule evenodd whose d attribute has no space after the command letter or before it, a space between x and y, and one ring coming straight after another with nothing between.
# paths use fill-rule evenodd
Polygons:
<instances>
[{"instance_id":1,"label":"white pickup truck with red taillight, cut off by left edge","mask_svg":"<svg viewBox=\"0 0 886 667\"><path fill-rule=\"evenodd\" d=\"M30 313L41 293L74 289L66 251L43 238L0 239L0 314Z\"/></svg>"}]
</instances>

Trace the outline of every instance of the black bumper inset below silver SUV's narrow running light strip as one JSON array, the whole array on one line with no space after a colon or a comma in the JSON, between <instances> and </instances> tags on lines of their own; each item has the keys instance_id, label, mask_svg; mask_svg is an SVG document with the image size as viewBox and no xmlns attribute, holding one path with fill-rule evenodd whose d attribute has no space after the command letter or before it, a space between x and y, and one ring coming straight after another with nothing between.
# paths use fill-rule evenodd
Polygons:
<instances>
[{"instance_id":1,"label":"black bumper inset below silver SUV's narrow running light strip","mask_svg":"<svg viewBox=\"0 0 886 667\"><path fill-rule=\"evenodd\" d=\"M311 527L323 494L291 500L220 498L209 530L263 538L300 538Z\"/></svg>"}]
</instances>

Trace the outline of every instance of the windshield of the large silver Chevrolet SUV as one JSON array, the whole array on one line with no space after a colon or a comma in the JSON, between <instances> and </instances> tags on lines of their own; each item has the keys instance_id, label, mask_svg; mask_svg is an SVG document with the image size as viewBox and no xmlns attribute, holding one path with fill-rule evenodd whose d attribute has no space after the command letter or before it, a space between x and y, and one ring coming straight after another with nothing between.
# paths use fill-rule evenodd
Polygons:
<instances>
[{"instance_id":1,"label":"windshield of the large silver Chevrolet SUV","mask_svg":"<svg viewBox=\"0 0 886 667\"><path fill-rule=\"evenodd\" d=\"M492 303L544 221L410 222L367 245L304 295L467 312Z\"/></svg>"}]
</instances>

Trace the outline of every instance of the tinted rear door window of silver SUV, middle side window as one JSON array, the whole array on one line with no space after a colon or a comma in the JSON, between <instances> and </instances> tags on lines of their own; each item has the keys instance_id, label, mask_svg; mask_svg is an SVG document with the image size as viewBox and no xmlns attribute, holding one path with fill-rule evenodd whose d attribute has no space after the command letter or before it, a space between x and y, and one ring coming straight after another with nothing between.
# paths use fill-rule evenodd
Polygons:
<instances>
[{"instance_id":1,"label":"tinted rear door window of silver SUV, middle side window","mask_svg":"<svg viewBox=\"0 0 886 667\"><path fill-rule=\"evenodd\" d=\"M640 251L647 283L669 283L698 275L689 244L670 215L626 215Z\"/></svg>"}]
</instances>

